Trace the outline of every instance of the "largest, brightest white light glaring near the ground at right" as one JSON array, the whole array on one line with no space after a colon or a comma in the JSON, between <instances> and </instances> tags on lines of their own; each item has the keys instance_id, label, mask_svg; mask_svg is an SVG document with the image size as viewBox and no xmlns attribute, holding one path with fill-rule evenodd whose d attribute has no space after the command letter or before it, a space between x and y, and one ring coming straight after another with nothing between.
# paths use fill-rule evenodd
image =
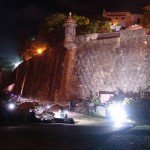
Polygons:
<instances>
[{"instance_id":1,"label":"largest, brightest white light glaring near the ground at right","mask_svg":"<svg viewBox=\"0 0 150 150\"><path fill-rule=\"evenodd\" d=\"M127 119L125 108L121 103L110 104L109 113L115 123L115 127L120 127Z\"/></svg>"}]
</instances>

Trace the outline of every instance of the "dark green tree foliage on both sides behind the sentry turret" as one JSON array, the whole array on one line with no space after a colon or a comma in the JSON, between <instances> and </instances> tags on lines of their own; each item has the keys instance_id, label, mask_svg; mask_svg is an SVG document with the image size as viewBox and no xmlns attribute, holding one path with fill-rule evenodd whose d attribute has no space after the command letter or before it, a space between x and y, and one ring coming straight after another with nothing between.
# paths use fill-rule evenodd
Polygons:
<instances>
[{"instance_id":1,"label":"dark green tree foliage on both sides behind the sentry turret","mask_svg":"<svg viewBox=\"0 0 150 150\"><path fill-rule=\"evenodd\" d=\"M49 42L51 46L63 41L63 24L66 19L67 16L65 14L56 13L48 16L40 27L38 37ZM90 19L85 16L73 15L73 19L77 22L77 35L110 32L109 21L104 18L103 21L90 21Z\"/></svg>"}]
</instances>

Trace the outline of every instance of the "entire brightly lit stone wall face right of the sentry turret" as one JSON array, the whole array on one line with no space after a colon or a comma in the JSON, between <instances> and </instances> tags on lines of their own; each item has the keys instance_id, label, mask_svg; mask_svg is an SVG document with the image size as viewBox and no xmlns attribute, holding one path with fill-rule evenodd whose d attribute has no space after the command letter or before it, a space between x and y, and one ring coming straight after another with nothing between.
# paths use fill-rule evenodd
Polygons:
<instances>
[{"instance_id":1,"label":"entire brightly lit stone wall face right of the sentry turret","mask_svg":"<svg viewBox=\"0 0 150 150\"><path fill-rule=\"evenodd\" d=\"M144 29L77 37L70 99L90 91L138 92L150 87L150 36Z\"/></svg>"}]
</instances>

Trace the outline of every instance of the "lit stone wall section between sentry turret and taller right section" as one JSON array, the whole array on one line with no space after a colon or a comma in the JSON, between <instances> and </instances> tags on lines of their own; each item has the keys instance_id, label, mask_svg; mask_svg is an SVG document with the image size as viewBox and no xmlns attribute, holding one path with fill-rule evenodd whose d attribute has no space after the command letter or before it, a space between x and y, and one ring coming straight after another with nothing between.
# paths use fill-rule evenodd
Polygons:
<instances>
[{"instance_id":1,"label":"lit stone wall section between sentry turret and taller right section","mask_svg":"<svg viewBox=\"0 0 150 150\"><path fill-rule=\"evenodd\" d=\"M93 35L95 36L95 35ZM91 35L90 35L91 37ZM115 90L115 69L120 38L78 39L72 73L73 98L86 98L92 92Z\"/></svg>"}]
</instances>

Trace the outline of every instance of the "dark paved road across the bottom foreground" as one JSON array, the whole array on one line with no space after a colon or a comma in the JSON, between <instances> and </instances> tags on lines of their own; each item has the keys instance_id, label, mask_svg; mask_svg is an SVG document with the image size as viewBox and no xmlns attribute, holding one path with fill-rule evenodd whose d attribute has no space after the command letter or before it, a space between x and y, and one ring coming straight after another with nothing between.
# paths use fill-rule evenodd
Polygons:
<instances>
[{"instance_id":1,"label":"dark paved road across the bottom foreground","mask_svg":"<svg viewBox=\"0 0 150 150\"><path fill-rule=\"evenodd\" d=\"M96 150L110 126L28 124L0 127L0 150Z\"/></svg>"}]
</instances>

